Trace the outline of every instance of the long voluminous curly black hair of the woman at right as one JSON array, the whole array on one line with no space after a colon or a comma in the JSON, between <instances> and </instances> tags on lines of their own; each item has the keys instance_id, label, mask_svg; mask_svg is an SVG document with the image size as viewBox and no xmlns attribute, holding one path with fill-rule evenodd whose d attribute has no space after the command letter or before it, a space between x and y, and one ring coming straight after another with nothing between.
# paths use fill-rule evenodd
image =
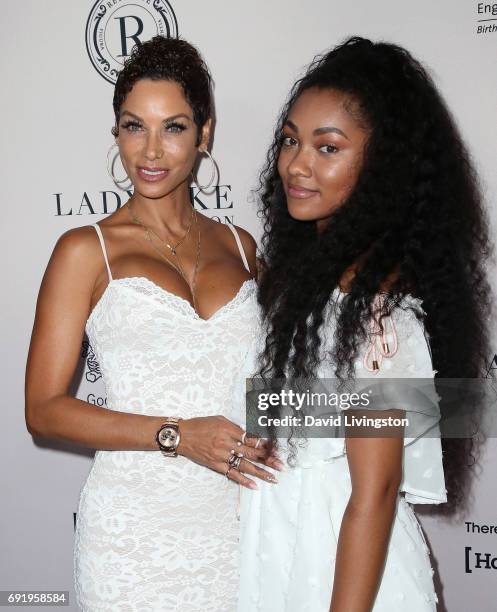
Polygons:
<instances>
[{"instance_id":1,"label":"long voluminous curly black hair of the woman at right","mask_svg":"<svg viewBox=\"0 0 497 612\"><path fill-rule=\"evenodd\" d=\"M277 169L285 119L310 88L350 95L370 128L355 188L321 233L314 221L289 215ZM258 301L268 329L259 375L312 377L325 308L345 270L361 258L329 355L339 379L353 378L373 298L392 273L382 316L402 306L405 294L422 299L437 377L485 376L487 218L455 122L407 50L353 37L316 57L282 109L259 197L264 233ZM441 511L450 513L463 500L474 442L442 444L448 504Z\"/></svg>"}]
</instances>

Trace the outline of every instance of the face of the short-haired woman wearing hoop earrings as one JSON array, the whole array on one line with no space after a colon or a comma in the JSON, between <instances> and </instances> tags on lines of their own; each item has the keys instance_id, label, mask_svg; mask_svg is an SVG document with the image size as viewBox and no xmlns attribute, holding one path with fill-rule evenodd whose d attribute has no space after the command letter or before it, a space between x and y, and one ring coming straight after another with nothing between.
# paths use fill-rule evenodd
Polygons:
<instances>
[{"instance_id":1,"label":"face of the short-haired woman wearing hoop earrings","mask_svg":"<svg viewBox=\"0 0 497 612\"><path fill-rule=\"evenodd\" d=\"M126 96L116 141L135 192L160 198L188 186L199 150L209 140L210 119L197 145L193 110L174 81L137 81Z\"/></svg>"}]
</instances>

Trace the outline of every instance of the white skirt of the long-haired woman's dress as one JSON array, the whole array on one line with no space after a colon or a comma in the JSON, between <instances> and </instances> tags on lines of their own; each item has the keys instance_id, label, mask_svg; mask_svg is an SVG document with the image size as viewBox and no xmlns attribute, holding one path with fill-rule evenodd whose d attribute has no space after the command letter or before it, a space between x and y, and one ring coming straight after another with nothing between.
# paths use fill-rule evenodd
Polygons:
<instances>
[{"instance_id":1,"label":"white skirt of the long-haired woman's dress","mask_svg":"<svg viewBox=\"0 0 497 612\"><path fill-rule=\"evenodd\" d=\"M238 612L329 612L351 493L347 457L274 473L278 484L259 480L259 490L242 488ZM436 611L432 576L421 527L399 493L374 612Z\"/></svg>"}]
</instances>

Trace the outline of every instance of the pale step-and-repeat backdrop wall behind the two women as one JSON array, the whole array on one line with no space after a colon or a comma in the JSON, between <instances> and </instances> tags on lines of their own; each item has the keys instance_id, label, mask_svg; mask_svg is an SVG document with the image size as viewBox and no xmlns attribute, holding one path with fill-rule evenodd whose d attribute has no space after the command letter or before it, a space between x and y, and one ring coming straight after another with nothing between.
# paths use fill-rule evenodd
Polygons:
<instances>
[{"instance_id":1,"label":"pale step-and-repeat backdrop wall behind the two women","mask_svg":"<svg viewBox=\"0 0 497 612\"><path fill-rule=\"evenodd\" d=\"M287 92L312 57L352 34L407 47L431 70L474 155L496 236L497 4L475 0L24 0L0 6L3 333L0 590L72 592L75 510L92 452L35 440L23 384L36 296L58 236L128 197L106 171L115 71L136 40L196 44L215 79L219 186L202 213L260 236L251 196ZM202 178L202 176L201 176ZM497 352L493 330L493 353ZM489 355L489 367L497 359ZM48 358L48 356L47 356ZM103 405L87 344L74 384ZM423 516L440 610L497 610L497 444L489 440L469 509ZM277 611L275 611L277 612Z\"/></svg>"}]
</instances>

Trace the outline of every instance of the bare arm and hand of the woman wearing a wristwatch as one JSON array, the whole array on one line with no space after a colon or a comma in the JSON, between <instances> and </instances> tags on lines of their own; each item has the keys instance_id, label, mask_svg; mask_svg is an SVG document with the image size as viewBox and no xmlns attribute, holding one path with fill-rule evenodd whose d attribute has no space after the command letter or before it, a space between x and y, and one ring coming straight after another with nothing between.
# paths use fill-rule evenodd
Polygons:
<instances>
[{"instance_id":1,"label":"bare arm and hand of the woman wearing a wristwatch","mask_svg":"<svg viewBox=\"0 0 497 612\"><path fill-rule=\"evenodd\" d=\"M155 434L162 416L109 410L69 395L79 359L94 289L107 283L97 236L90 227L66 232L57 242L45 271L29 347L25 382L25 418L33 436L67 440L94 449L157 450ZM104 279L100 281L99 279ZM222 416L181 421L180 454L216 471L240 439L240 427ZM243 445L249 460L262 461L265 448ZM269 460L271 461L271 460ZM249 461L244 471L269 473ZM248 486L252 481L235 478Z\"/></svg>"}]
</instances>

